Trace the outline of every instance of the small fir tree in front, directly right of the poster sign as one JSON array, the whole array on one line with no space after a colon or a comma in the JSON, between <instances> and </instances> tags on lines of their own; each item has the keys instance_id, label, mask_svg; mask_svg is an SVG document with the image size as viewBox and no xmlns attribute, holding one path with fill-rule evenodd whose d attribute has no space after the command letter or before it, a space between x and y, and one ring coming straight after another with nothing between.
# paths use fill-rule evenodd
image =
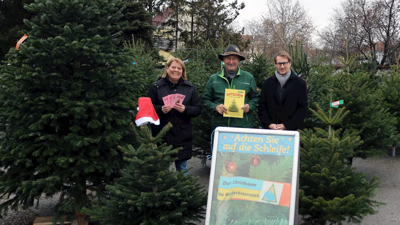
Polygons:
<instances>
[{"instance_id":1,"label":"small fir tree in front, directly right of the poster sign","mask_svg":"<svg viewBox=\"0 0 400 225\"><path fill-rule=\"evenodd\" d=\"M365 215L376 213L380 205L372 200L378 187L377 177L366 181L366 174L348 167L347 159L362 144L360 136L349 130L331 129L348 111L339 108L329 114L316 105L314 114L329 127L328 131L300 131L300 193L299 213L307 225L360 223ZM346 224L347 224L346 223Z\"/></svg>"}]
</instances>

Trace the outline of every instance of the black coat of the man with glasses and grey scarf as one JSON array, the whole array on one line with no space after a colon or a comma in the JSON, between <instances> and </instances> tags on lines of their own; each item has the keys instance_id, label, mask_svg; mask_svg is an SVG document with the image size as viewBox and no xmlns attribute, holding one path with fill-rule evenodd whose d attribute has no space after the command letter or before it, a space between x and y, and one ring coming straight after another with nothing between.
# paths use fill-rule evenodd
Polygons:
<instances>
[{"instance_id":1,"label":"black coat of the man with glasses and grey scarf","mask_svg":"<svg viewBox=\"0 0 400 225\"><path fill-rule=\"evenodd\" d=\"M285 125L286 130L296 131L303 129L304 119L308 111L307 84L291 71L290 77L278 95L278 78L276 75L264 80L262 85L258 117L262 127L268 129L270 124Z\"/></svg>"}]
</instances>

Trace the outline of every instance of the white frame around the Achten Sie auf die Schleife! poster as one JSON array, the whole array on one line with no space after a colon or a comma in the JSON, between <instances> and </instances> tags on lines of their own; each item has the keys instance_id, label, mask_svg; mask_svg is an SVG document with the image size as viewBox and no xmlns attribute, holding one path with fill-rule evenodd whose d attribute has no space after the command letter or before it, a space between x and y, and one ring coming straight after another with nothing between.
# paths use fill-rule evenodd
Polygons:
<instances>
[{"instance_id":1,"label":"white frame around the Achten Sie auf die Schleife! poster","mask_svg":"<svg viewBox=\"0 0 400 225\"><path fill-rule=\"evenodd\" d=\"M205 225L210 225L211 216L211 203L213 198L214 189L214 177L216 170L216 159L218 152L218 135L220 132L229 133L241 133L241 134L260 134L260 135L285 135L294 137L294 152L293 152L293 165L292 165L292 182L290 192L290 211L289 211L289 225L294 225L295 221L295 206L296 206L296 192L298 192L298 166L299 166L299 154L300 154L300 133L298 131L278 131L268 129L252 129L252 128L238 128L238 127L217 127L214 131L214 143L211 158L211 171L210 171L210 183L208 186L208 198L207 198L207 209ZM218 185L218 184L217 184ZM297 221L297 220L296 220Z\"/></svg>"}]
</instances>

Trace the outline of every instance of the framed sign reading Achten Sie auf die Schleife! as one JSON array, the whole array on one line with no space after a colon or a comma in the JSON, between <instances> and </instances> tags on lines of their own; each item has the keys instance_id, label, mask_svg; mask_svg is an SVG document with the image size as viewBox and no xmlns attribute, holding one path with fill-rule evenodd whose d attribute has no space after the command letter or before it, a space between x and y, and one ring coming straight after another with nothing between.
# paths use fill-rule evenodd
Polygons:
<instances>
[{"instance_id":1,"label":"framed sign reading Achten Sie auf die Schleife!","mask_svg":"<svg viewBox=\"0 0 400 225\"><path fill-rule=\"evenodd\" d=\"M300 135L217 127L206 225L293 225Z\"/></svg>"}]
</instances>

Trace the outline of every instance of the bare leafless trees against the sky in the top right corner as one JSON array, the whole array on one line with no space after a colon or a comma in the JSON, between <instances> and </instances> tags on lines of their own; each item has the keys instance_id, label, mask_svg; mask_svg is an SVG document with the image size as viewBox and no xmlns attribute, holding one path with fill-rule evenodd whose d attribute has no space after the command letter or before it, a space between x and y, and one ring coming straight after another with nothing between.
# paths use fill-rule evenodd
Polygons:
<instances>
[{"instance_id":1,"label":"bare leafless trees against the sky in the top right corner","mask_svg":"<svg viewBox=\"0 0 400 225\"><path fill-rule=\"evenodd\" d=\"M331 56L350 54L381 65L398 50L400 0L345 0L335 9L331 24L318 33Z\"/></svg>"}]
</instances>

